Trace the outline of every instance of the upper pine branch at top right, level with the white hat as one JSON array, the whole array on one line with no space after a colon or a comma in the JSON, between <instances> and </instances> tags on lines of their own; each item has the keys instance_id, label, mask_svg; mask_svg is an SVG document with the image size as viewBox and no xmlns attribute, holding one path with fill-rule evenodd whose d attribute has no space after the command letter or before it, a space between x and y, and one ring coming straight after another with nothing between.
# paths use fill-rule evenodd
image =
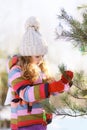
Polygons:
<instances>
[{"instance_id":1,"label":"upper pine branch at top right, level with the white hat","mask_svg":"<svg viewBox=\"0 0 87 130\"><path fill-rule=\"evenodd\" d=\"M60 15L58 15L58 19L66 23L68 29L64 29L62 26L62 32L59 34L58 29L56 30L57 39L65 39L71 41L75 47L78 47L81 52L87 52L87 10L82 14L82 21L78 21L72 16L68 15L68 13L61 9Z\"/></svg>"}]
</instances>

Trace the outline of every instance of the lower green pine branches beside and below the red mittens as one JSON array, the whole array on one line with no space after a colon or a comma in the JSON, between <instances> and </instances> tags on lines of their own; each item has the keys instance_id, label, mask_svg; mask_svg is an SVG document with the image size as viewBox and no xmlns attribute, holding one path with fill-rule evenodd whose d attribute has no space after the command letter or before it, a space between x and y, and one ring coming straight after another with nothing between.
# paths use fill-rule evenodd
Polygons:
<instances>
[{"instance_id":1,"label":"lower green pine branches beside and below the red mittens","mask_svg":"<svg viewBox=\"0 0 87 130\"><path fill-rule=\"evenodd\" d=\"M66 67L62 64L59 67L61 74L64 74ZM84 72L75 72L73 85L69 92L63 92L58 96L51 96L50 104L46 100L42 102L47 112L56 116L86 116L87 115L87 77Z\"/></svg>"}]
</instances>

